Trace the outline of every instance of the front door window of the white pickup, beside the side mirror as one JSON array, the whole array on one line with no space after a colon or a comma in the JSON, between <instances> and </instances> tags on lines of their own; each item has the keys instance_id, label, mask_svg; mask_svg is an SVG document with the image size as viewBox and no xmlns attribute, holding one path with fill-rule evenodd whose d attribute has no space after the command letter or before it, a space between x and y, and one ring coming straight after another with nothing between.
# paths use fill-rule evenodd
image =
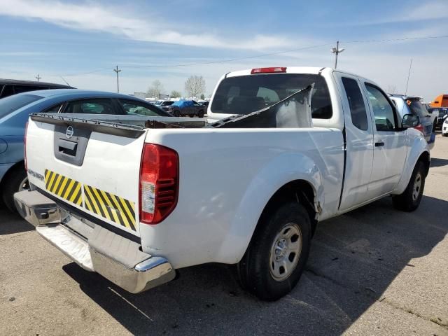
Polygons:
<instances>
[{"instance_id":1,"label":"front door window of the white pickup, beside the side mirror","mask_svg":"<svg viewBox=\"0 0 448 336\"><path fill-rule=\"evenodd\" d=\"M365 88L369 95L377 131L395 131L395 115L386 95L371 84L365 83Z\"/></svg>"}]
</instances>

